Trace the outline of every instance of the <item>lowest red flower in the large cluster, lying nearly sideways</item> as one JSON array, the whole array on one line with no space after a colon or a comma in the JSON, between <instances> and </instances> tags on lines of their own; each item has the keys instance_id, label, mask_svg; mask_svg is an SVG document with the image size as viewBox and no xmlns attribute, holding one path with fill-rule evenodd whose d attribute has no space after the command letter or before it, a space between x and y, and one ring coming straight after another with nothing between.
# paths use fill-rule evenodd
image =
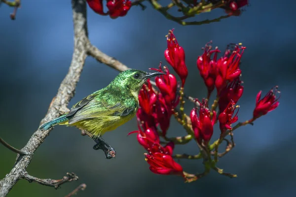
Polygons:
<instances>
[{"instance_id":1,"label":"lowest red flower in the large cluster, lying nearly sideways","mask_svg":"<svg viewBox=\"0 0 296 197\"><path fill-rule=\"evenodd\" d=\"M150 154L145 154L145 157L145 160L150 165L149 169L155 174L184 176L182 166L176 163L170 155L151 152Z\"/></svg>"}]
</instances>

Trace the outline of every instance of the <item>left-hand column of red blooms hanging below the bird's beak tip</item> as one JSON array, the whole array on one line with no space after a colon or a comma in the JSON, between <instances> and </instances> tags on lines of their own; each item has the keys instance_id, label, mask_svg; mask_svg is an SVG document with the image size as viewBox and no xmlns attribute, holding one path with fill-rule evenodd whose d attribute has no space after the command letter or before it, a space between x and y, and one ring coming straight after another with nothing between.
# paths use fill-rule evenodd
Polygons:
<instances>
[{"instance_id":1,"label":"left-hand column of red blooms hanging below the bird's beak tip","mask_svg":"<svg viewBox=\"0 0 296 197\"><path fill-rule=\"evenodd\" d=\"M145 154L150 170L157 174L183 175L183 168L173 158L174 143L160 145L159 134L166 136L174 108L178 105L177 79L167 67L151 68L166 74L155 77L159 92L156 92L148 80L139 93L140 108L137 112L138 142L148 151ZM158 128L159 127L159 128ZM133 133L131 132L131 133ZM129 134L131 134L129 133Z\"/></svg>"}]
</instances>

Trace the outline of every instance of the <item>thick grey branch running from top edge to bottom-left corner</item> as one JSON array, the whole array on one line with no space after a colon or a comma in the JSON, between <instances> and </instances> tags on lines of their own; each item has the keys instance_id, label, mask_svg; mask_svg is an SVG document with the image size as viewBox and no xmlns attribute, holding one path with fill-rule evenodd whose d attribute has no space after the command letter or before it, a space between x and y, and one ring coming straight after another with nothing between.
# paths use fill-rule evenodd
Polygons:
<instances>
[{"instance_id":1,"label":"thick grey branch running from top edge to bottom-left corner","mask_svg":"<svg viewBox=\"0 0 296 197\"><path fill-rule=\"evenodd\" d=\"M72 0L73 22L74 22L74 52L69 72L62 81L58 93L51 103L47 114L40 122L40 125L57 118L66 108L69 101L74 97L76 84L79 80L85 59L87 57L86 47L89 43L85 0ZM29 139L27 145L21 150L28 152L28 155L18 156L11 171L0 180L0 196L4 197L23 178L26 168L30 164L34 152L45 140L51 130L37 130Z\"/></svg>"}]
</instances>

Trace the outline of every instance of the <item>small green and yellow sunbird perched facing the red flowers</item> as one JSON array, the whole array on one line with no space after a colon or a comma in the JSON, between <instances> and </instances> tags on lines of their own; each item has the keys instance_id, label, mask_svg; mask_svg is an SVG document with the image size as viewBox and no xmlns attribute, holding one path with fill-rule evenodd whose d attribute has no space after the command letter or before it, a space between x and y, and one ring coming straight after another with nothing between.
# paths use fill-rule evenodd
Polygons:
<instances>
[{"instance_id":1,"label":"small green and yellow sunbird perched facing the red flowers","mask_svg":"<svg viewBox=\"0 0 296 197\"><path fill-rule=\"evenodd\" d=\"M139 108L139 91L151 77L162 72L128 69L119 73L105 88L98 90L73 105L71 110L40 126L46 131L56 125L75 126L92 134L94 149L102 149L107 159L115 150L101 136L131 120ZM107 147L106 147L106 146Z\"/></svg>"}]
</instances>

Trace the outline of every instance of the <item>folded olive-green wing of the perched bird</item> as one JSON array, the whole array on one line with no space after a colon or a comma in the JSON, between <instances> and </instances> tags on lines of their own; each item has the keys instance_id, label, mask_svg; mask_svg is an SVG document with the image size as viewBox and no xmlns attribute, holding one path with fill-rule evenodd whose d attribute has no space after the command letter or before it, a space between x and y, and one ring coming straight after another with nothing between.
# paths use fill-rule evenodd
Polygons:
<instances>
[{"instance_id":1,"label":"folded olive-green wing of the perched bird","mask_svg":"<svg viewBox=\"0 0 296 197\"><path fill-rule=\"evenodd\" d=\"M106 116L127 116L131 114L135 108L134 106L127 107L121 102L108 103L104 99L95 99L97 95L90 95L77 104L75 104L67 117L69 117L69 124L74 124L80 120L91 118L107 118Z\"/></svg>"}]
</instances>

